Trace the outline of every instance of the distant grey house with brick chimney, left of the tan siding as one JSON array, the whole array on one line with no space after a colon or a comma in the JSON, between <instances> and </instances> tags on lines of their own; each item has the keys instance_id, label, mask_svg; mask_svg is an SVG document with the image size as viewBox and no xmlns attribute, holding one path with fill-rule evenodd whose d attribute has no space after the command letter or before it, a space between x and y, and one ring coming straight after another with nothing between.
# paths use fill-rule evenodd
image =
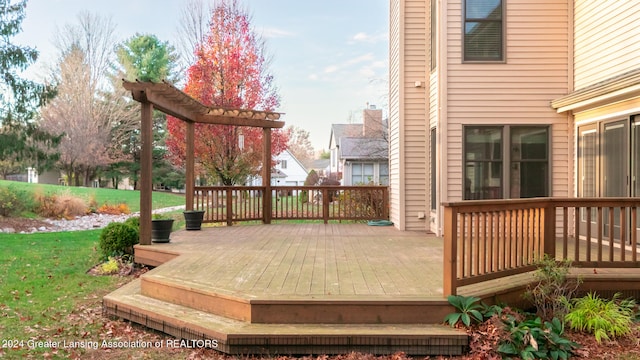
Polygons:
<instances>
[{"instance_id":1,"label":"distant grey house with brick chimney, left of the tan siding","mask_svg":"<svg viewBox=\"0 0 640 360\"><path fill-rule=\"evenodd\" d=\"M382 110L362 112L362 124L333 124L329 176L342 185L389 184L389 142Z\"/></svg>"}]
</instances>

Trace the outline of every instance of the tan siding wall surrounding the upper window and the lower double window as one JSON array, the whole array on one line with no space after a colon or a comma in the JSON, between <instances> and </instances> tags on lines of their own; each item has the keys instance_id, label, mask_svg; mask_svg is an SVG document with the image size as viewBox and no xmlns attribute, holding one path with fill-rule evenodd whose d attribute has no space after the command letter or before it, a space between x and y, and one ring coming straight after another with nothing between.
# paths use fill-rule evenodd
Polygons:
<instances>
[{"instance_id":1,"label":"tan siding wall surrounding the upper window and the lower double window","mask_svg":"<svg viewBox=\"0 0 640 360\"><path fill-rule=\"evenodd\" d=\"M447 8L447 194L462 199L462 128L474 124L549 124L552 194L568 191L570 157L566 115L551 100L568 91L569 2L504 1L504 63L462 63L462 2Z\"/></svg>"}]
</instances>

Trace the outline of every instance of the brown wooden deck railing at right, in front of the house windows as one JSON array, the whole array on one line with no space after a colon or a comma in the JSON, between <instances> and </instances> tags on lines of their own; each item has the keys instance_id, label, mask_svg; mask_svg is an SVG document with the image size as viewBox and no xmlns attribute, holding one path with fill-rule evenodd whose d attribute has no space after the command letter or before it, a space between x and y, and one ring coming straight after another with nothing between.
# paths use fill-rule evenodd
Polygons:
<instances>
[{"instance_id":1,"label":"brown wooden deck railing at right, in front of the house windows","mask_svg":"<svg viewBox=\"0 0 640 360\"><path fill-rule=\"evenodd\" d=\"M545 254L578 267L640 267L640 198L445 203L444 294L535 269Z\"/></svg>"}]
</instances>

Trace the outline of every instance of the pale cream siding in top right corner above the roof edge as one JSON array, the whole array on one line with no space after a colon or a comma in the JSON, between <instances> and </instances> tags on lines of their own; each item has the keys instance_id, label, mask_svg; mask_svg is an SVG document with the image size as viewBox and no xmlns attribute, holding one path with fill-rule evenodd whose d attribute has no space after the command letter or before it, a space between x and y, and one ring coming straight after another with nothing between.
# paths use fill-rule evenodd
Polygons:
<instances>
[{"instance_id":1,"label":"pale cream siding in top right corner above the roof edge","mask_svg":"<svg viewBox=\"0 0 640 360\"><path fill-rule=\"evenodd\" d=\"M640 2L575 1L575 88L640 66Z\"/></svg>"}]
</instances>

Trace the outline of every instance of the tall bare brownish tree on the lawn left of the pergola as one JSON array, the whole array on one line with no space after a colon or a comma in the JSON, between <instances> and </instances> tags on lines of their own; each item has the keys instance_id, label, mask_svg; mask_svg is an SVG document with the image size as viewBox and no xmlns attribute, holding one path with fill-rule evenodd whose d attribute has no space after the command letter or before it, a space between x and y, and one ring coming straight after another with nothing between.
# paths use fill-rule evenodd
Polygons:
<instances>
[{"instance_id":1,"label":"tall bare brownish tree on the lawn left of the pergola","mask_svg":"<svg viewBox=\"0 0 640 360\"><path fill-rule=\"evenodd\" d=\"M42 109L42 126L64 132L59 165L70 184L86 186L101 168L123 158L122 138L136 125L139 108L109 77L112 23L89 13L78 19L57 34L62 55L52 77L58 92Z\"/></svg>"}]
</instances>

